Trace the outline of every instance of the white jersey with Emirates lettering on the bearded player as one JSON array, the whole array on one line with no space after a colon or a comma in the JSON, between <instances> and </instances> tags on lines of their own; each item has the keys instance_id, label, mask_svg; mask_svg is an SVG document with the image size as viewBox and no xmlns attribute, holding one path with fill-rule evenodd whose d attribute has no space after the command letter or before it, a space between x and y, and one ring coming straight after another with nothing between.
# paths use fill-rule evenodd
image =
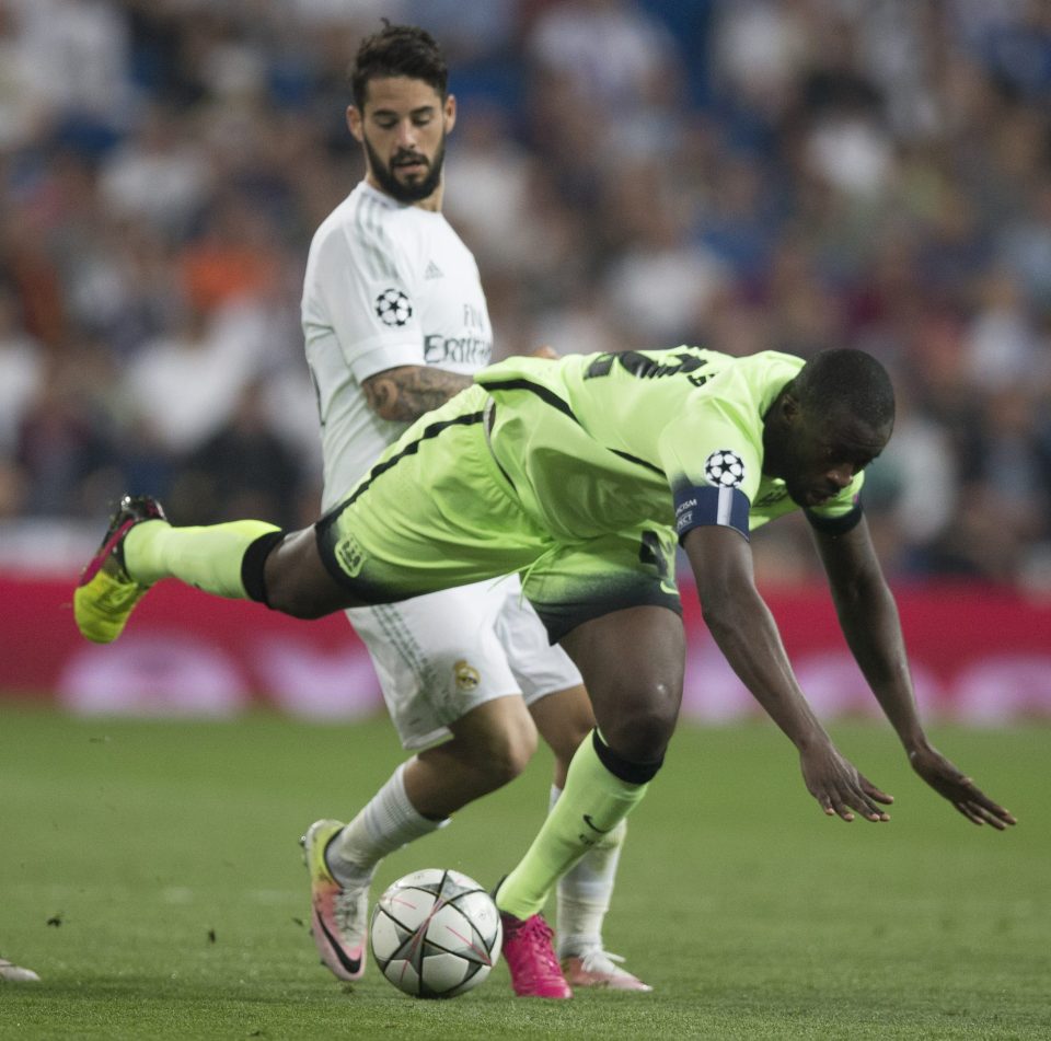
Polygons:
<instances>
[{"instance_id":1,"label":"white jersey with Emirates lettering on the bearded player","mask_svg":"<svg viewBox=\"0 0 1051 1041\"><path fill-rule=\"evenodd\" d=\"M363 380L397 366L470 374L493 352L477 264L460 236L441 213L366 182L314 234L302 323L321 417L323 509L407 426L369 408Z\"/></svg>"}]
</instances>

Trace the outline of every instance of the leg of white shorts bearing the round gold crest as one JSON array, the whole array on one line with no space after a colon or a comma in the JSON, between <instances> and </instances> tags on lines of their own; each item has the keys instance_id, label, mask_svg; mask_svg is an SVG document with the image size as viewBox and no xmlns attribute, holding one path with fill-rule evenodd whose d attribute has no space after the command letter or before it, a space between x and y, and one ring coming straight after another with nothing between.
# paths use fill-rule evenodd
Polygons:
<instances>
[{"instance_id":1,"label":"leg of white shorts bearing the round gold crest","mask_svg":"<svg viewBox=\"0 0 1051 1041\"><path fill-rule=\"evenodd\" d=\"M405 748L448 737L476 706L519 693L496 633L501 603L482 582L347 612Z\"/></svg>"}]
</instances>

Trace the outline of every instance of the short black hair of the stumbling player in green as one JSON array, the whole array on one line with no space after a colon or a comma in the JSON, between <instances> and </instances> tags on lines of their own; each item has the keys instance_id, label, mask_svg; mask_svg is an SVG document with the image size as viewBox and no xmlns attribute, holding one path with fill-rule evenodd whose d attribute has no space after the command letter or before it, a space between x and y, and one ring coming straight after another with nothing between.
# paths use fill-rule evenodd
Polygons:
<instances>
[{"instance_id":1,"label":"short black hair of the stumbling player in green","mask_svg":"<svg viewBox=\"0 0 1051 1041\"><path fill-rule=\"evenodd\" d=\"M792 392L805 412L827 413L843 405L857 418L881 427L894 420L894 389L887 370L864 350L821 350L799 370Z\"/></svg>"}]
</instances>

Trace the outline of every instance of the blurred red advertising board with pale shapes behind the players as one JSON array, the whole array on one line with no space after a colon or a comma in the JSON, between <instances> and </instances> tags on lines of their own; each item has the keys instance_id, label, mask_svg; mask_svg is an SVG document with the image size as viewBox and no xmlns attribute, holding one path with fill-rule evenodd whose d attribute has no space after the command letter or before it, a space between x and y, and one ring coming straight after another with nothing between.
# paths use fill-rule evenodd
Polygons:
<instances>
[{"instance_id":1,"label":"blurred red advertising board with pale shapes behind the players","mask_svg":"<svg viewBox=\"0 0 1051 1041\"><path fill-rule=\"evenodd\" d=\"M1051 603L973 585L896 590L924 714L981 724L1051 717ZM368 655L342 615L297 622L257 604L164 582L115 644L81 639L72 579L0 575L0 696L55 699L84 713L227 715L252 703L347 719L378 710ZM822 588L765 599L818 713L877 712ZM683 712L704 720L758 709L729 670L684 585Z\"/></svg>"}]
</instances>

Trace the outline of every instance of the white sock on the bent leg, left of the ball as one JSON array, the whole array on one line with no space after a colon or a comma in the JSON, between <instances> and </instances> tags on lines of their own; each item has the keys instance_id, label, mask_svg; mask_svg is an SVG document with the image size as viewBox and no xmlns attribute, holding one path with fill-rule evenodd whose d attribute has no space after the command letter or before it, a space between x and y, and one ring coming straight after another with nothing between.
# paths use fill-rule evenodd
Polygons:
<instances>
[{"instance_id":1,"label":"white sock on the bent leg, left of the ball","mask_svg":"<svg viewBox=\"0 0 1051 1041\"><path fill-rule=\"evenodd\" d=\"M325 860L340 886L368 886L380 860L389 853L449 823L449 818L428 820L408 801L404 777L407 765L402 763L358 816L328 843Z\"/></svg>"}]
</instances>

